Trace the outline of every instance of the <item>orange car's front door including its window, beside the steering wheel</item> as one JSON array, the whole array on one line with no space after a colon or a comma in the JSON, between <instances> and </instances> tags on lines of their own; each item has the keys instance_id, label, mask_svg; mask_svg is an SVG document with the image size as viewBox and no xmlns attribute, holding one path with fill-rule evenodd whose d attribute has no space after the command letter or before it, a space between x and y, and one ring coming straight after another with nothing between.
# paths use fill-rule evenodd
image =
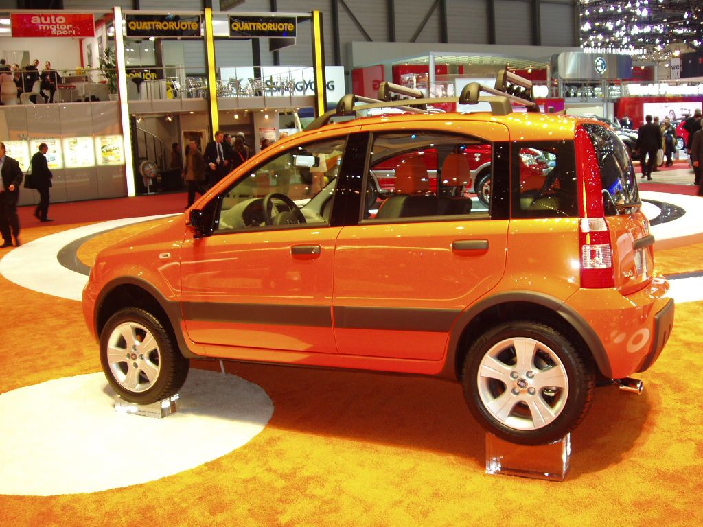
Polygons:
<instances>
[{"instance_id":1,"label":"orange car's front door including its window, beside the steering wheel","mask_svg":"<svg viewBox=\"0 0 703 527\"><path fill-rule=\"evenodd\" d=\"M216 354L232 358L264 358L257 349L336 353L330 306L340 227L329 216L345 142L274 145L205 206L216 207L214 233L186 240L181 252L193 341L226 346Z\"/></svg>"}]
</instances>

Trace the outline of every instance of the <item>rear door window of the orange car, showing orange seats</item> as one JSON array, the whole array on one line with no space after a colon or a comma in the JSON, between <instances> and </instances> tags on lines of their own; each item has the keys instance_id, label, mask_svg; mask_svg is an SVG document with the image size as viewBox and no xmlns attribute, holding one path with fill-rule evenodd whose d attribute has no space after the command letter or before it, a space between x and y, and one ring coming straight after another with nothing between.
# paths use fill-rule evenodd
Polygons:
<instances>
[{"instance_id":1,"label":"rear door window of the orange car, showing orange seats","mask_svg":"<svg viewBox=\"0 0 703 527\"><path fill-rule=\"evenodd\" d=\"M371 151L363 219L488 217L474 182L479 173L490 176L490 143L415 131L378 134Z\"/></svg>"}]
</instances>

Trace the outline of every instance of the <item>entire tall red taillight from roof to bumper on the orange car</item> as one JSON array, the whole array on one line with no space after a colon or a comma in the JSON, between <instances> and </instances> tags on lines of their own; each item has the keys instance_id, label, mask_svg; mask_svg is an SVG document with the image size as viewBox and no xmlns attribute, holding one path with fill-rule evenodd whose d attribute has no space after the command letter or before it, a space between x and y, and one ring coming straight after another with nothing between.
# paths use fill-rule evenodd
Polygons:
<instances>
[{"instance_id":1,"label":"entire tall red taillight from roof to bumper on the orange car","mask_svg":"<svg viewBox=\"0 0 703 527\"><path fill-rule=\"evenodd\" d=\"M615 287L610 231L603 210L602 183L595 148L583 126L576 127L574 139L579 174L581 287Z\"/></svg>"}]
</instances>

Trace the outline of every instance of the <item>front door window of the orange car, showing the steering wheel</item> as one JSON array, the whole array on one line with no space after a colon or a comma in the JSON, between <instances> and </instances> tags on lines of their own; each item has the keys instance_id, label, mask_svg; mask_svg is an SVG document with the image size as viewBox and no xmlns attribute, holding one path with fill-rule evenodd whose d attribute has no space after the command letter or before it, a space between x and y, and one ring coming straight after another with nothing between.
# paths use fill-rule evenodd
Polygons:
<instances>
[{"instance_id":1,"label":"front door window of the orange car, showing the steering wheel","mask_svg":"<svg viewBox=\"0 0 703 527\"><path fill-rule=\"evenodd\" d=\"M328 223L345 142L299 145L240 177L220 197L215 233Z\"/></svg>"}]
</instances>

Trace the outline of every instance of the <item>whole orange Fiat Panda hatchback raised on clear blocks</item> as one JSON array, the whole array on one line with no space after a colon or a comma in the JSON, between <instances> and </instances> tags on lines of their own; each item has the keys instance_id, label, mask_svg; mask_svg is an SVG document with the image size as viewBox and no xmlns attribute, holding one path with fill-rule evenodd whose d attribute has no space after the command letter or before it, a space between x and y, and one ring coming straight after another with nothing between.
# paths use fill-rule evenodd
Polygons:
<instances>
[{"instance_id":1,"label":"whole orange Fiat Panda hatchback raised on clear blocks","mask_svg":"<svg viewBox=\"0 0 703 527\"><path fill-rule=\"evenodd\" d=\"M538 444L579 424L596 384L652 366L673 300L614 132L540 113L507 72L460 98L394 91L345 96L98 255L84 313L122 398L172 396L203 357L429 375L463 384L491 433ZM363 117L390 107L404 112ZM484 146L487 204L463 153ZM521 181L524 152L543 159L540 184Z\"/></svg>"}]
</instances>

